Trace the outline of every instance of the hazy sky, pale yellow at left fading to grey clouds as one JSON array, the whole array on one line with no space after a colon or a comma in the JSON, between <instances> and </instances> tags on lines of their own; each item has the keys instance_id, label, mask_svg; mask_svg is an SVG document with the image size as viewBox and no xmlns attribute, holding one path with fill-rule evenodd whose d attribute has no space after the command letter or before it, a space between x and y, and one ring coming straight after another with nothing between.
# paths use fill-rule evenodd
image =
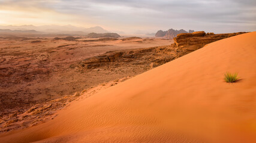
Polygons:
<instances>
[{"instance_id":1,"label":"hazy sky, pale yellow at left fading to grey clouds","mask_svg":"<svg viewBox=\"0 0 256 143\"><path fill-rule=\"evenodd\" d=\"M0 25L72 24L113 32L256 30L255 0L0 0Z\"/></svg>"}]
</instances>

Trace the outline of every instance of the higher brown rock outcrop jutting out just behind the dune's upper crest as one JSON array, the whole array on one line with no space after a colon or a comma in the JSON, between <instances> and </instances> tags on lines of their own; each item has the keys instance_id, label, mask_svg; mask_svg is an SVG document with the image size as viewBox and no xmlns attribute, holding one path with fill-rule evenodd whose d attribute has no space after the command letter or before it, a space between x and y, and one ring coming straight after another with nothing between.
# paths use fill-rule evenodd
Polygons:
<instances>
[{"instance_id":1,"label":"higher brown rock outcrop jutting out just behind the dune's upper crest","mask_svg":"<svg viewBox=\"0 0 256 143\"><path fill-rule=\"evenodd\" d=\"M240 35L242 33L245 32L225 34L205 33L203 31L193 33L181 33L177 35L177 38L174 38L174 43L172 46L173 48L176 48L177 50L188 54L189 52L202 48L208 43L219 41L224 38L229 38L231 36Z\"/></svg>"}]
</instances>

